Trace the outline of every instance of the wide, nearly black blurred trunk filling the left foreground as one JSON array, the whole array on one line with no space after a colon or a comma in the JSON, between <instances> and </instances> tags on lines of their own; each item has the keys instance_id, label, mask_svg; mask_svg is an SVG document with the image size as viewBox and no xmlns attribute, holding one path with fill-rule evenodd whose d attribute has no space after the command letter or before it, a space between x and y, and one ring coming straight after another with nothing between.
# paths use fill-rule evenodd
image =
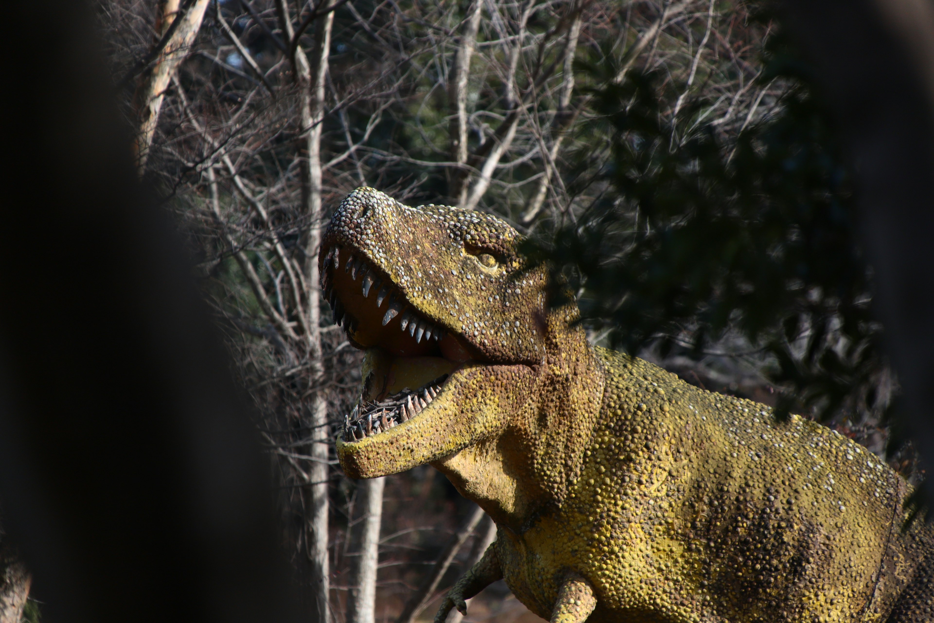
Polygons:
<instances>
[{"instance_id":1,"label":"wide, nearly black blurred trunk filling the left foreground","mask_svg":"<svg viewBox=\"0 0 934 623\"><path fill-rule=\"evenodd\" d=\"M297 620L268 468L89 7L37 8L4 38L4 529L48 621Z\"/></svg>"}]
</instances>

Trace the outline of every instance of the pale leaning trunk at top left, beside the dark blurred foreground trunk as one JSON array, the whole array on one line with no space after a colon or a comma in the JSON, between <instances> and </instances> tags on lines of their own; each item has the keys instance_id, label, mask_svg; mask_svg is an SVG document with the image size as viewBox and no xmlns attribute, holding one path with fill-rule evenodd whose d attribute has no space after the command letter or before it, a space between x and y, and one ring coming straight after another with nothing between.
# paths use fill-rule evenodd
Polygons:
<instances>
[{"instance_id":1,"label":"pale leaning trunk at top left, beside the dark blurred foreground trunk","mask_svg":"<svg viewBox=\"0 0 934 623\"><path fill-rule=\"evenodd\" d=\"M195 35L201 30L201 22L205 19L205 9L209 0L196 0L196 2L181 17L182 23L167 44L159 59L156 61L149 78L140 91L138 102L139 129L134 141L136 157L136 170L142 176L146 171L146 162L149 160L149 149L152 147L152 137L159 124L159 112L163 107L165 89L169 86L178 69L178 65L188 55ZM179 0L166 0L163 5L162 19L159 25L159 35L165 34L172 22L175 21L179 7Z\"/></svg>"}]
</instances>

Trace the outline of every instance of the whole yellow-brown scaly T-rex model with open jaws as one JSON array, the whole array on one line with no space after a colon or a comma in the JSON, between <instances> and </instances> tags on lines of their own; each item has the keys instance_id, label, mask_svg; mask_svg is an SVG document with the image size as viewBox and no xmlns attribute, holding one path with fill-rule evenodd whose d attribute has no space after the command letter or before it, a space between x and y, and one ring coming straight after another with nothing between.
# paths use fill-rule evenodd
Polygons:
<instances>
[{"instance_id":1,"label":"whole yellow-brown scaly T-rex model with open jaws","mask_svg":"<svg viewBox=\"0 0 934 623\"><path fill-rule=\"evenodd\" d=\"M560 623L934 620L934 534L909 487L814 422L591 347L487 214L360 188L321 284L366 350L337 453L431 463L497 524L435 621L500 578Z\"/></svg>"}]
</instances>

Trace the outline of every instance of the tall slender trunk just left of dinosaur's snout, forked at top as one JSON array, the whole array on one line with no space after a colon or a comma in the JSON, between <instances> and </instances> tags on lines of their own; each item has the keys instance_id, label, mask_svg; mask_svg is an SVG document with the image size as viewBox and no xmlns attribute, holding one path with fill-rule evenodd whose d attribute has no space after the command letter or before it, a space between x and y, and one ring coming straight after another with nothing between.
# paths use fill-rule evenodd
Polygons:
<instances>
[{"instance_id":1,"label":"tall slender trunk just left of dinosaur's snout, forked at top","mask_svg":"<svg viewBox=\"0 0 934 623\"><path fill-rule=\"evenodd\" d=\"M333 0L325 0L327 10ZM307 347L311 362L312 386L320 385L324 375L321 361L320 331L320 276L318 275L318 247L321 243L323 205L321 198L321 120L324 118L324 85L328 72L328 54L331 49L333 11L327 11L315 22L315 42L311 58L305 54L295 38L286 0L276 0L279 21L289 46L295 52L291 57L292 76L299 87L299 158L302 172L302 208L308 217L308 236L305 244L306 299L308 302ZM313 590L315 609L320 623L330 619L330 564L328 559L328 404L323 391L311 394L311 444L307 453L311 457L307 509L307 555L311 573L315 578Z\"/></svg>"}]
</instances>

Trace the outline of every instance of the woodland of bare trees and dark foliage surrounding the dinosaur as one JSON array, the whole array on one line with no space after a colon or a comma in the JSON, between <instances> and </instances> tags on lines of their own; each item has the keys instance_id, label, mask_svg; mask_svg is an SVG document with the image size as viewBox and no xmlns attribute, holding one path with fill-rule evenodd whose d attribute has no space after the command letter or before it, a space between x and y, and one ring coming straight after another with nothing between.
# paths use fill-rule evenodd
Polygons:
<instances>
[{"instance_id":1,"label":"woodland of bare trees and dark foliage surrounding the dinosaur","mask_svg":"<svg viewBox=\"0 0 934 623\"><path fill-rule=\"evenodd\" d=\"M314 258L362 184L508 219L571 280L595 343L884 453L897 382L852 181L761 7L168 0L98 18L140 176L256 404L310 618L430 618L490 538L431 468L357 483L334 464L359 354ZM472 606L533 619L502 586Z\"/></svg>"}]
</instances>

